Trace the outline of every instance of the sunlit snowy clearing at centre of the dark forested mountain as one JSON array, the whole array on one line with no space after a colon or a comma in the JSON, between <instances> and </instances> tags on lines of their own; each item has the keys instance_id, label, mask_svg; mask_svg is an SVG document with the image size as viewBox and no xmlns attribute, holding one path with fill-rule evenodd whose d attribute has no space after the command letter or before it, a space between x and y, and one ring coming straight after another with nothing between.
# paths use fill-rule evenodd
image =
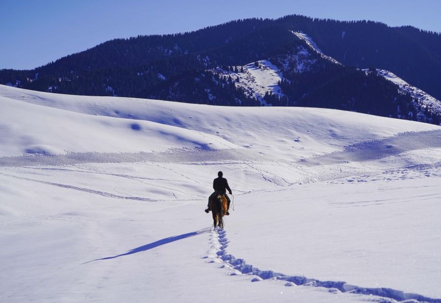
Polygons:
<instances>
[{"instance_id":1,"label":"sunlit snowy clearing at centre of the dark forested mountain","mask_svg":"<svg viewBox=\"0 0 441 303\"><path fill-rule=\"evenodd\" d=\"M272 94L282 97L282 89L278 85L278 82L283 79L282 72L268 60L258 61L259 67L254 63L250 63L244 66L239 66L242 72L225 71L222 68L215 69L219 75L231 76L236 87L242 88L247 96L256 97L262 105L267 104L263 99L265 93L271 92ZM237 79L239 79L237 81Z\"/></svg>"}]
</instances>

